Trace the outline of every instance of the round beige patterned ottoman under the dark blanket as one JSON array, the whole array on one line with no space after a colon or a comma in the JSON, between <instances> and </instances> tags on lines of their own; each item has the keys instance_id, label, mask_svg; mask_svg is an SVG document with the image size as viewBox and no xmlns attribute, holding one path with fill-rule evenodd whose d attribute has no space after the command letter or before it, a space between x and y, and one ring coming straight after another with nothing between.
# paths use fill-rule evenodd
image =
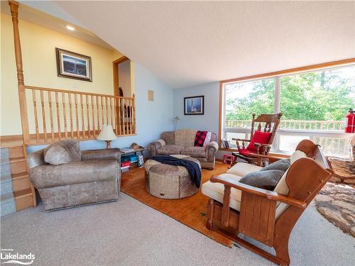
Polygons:
<instances>
[{"instance_id":1,"label":"round beige patterned ottoman under the dark blanket","mask_svg":"<svg viewBox=\"0 0 355 266\"><path fill-rule=\"evenodd\" d=\"M185 155L174 156L197 162L201 169L199 160L195 158ZM155 160L148 160L144 165L146 168L146 189L153 196L162 199L182 199L192 196L200 190L192 181L185 167L165 165Z\"/></svg>"}]
</instances>

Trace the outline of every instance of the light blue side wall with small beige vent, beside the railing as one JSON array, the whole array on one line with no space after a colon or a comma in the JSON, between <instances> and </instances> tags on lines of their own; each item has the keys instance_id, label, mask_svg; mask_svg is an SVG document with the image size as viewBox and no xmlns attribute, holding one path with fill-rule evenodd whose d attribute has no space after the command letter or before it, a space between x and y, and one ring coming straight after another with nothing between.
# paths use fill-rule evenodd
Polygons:
<instances>
[{"instance_id":1,"label":"light blue side wall with small beige vent, beside the railing","mask_svg":"<svg viewBox=\"0 0 355 266\"><path fill-rule=\"evenodd\" d=\"M119 137L112 141L111 147L124 148L133 142L147 146L152 140L159 138L163 131L173 130L173 89L163 84L160 79L141 65L134 63L136 83L136 124L137 135ZM148 101L148 89L154 91L154 101ZM28 153L40 150L45 146L28 147ZM80 141L82 150L105 148L106 143L100 140Z\"/></svg>"}]
</instances>

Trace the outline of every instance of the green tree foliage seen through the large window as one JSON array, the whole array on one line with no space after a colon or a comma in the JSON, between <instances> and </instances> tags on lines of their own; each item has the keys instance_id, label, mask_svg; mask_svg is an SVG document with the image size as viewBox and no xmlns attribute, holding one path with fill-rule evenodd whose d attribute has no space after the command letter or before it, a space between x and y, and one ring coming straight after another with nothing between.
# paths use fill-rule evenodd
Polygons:
<instances>
[{"instance_id":1,"label":"green tree foliage seen through the large window","mask_svg":"<svg viewBox=\"0 0 355 266\"><path fill-rule=\"evenodd\" d=\"M355 67L347 67L346 72L336 69L295 74L280 81L283 120L339 121L349 108L355 107ZM246 88L249 94L236 94ZM249 120L251 113L273 113L274 94L275 78L230 84L226 91L226 118Z\"/></svg>"}]
</instances>

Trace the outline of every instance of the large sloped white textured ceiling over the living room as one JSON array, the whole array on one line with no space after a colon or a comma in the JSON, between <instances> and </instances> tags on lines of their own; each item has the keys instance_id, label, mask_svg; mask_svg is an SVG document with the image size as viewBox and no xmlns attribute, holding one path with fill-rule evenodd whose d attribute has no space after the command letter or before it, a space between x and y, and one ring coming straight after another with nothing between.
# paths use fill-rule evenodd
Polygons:
<instances>
[{"instance_id":1,"label":"large sloped white textured ceiling over the living room","mask_svg":"<svg viewBox=\"0 0 355 266\"><path fill-rule=\"evenodd\" d=\"M355 1L53 3L173 88L355 57Z\"/></svg>"}]
</instances>

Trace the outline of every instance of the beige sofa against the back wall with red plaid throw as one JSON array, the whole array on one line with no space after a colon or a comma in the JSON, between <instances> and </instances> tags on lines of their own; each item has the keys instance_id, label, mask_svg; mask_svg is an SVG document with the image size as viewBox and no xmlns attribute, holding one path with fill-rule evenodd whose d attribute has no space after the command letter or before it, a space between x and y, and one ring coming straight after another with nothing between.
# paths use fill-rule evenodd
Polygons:
<instances>
[{"instance_id":1,"label":"beige sofa against the back wall with red plaid throw","mask_svg":"<svg viewBox=\"0 0 355 266\"><path fill-rule=\"evenodd\" d=\"M200 161L201 167L213 170L218 150L217 136L212 133L211 140L206 147L195 147L195 130L165 131L160 140L148 145L151 156L154 155L188 155Z\"/></svg>"}]
</instances>

